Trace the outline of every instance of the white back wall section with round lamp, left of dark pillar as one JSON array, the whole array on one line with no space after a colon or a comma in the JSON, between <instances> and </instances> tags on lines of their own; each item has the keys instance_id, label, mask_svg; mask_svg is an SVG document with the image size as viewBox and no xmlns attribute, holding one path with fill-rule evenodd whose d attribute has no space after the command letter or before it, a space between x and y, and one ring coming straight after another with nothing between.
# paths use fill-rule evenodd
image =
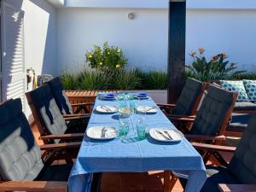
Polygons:
<instances>
[{"instance_id":1,"label":"white back wall section with round lamp, left of dark pillar","mask_svg":"<svg viewBox=\"0 0 256 192\"><path fill-rule=\"evenodd\" d=\"M131 67L166 70L167 35L166 9L58 9L58 73L83 65L85 52L106 41L124 50Z\"/></svg>"}]
</instances>

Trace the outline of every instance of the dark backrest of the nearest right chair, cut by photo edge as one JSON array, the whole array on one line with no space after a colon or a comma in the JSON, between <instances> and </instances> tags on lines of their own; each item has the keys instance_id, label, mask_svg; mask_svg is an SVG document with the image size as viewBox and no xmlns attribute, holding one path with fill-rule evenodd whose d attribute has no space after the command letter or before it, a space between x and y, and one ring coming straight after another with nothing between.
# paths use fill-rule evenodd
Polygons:
<instances>
[{"instance_id":1,"label":"dark backrest of the nearest right chair, cut by photo edge","mask_svg":"<svg viewBox=\"0 0 256 192\"><path fill-rule=\"evenodd\" d=\"M252 114L228 166L243 184L256 184L256 113Z\"/></svg>"}]
</instances>

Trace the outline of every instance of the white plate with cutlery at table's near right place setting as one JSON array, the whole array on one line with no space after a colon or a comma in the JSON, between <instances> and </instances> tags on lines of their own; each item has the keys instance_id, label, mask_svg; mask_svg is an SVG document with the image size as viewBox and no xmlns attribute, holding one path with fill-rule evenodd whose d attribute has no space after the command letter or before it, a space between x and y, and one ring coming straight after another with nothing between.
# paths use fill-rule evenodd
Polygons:
<instances>
[{"instance_id":1,"label":"white plate with cutlery at table's near right place setting","mask_svg":"<svg viewBox=\"0 0 256 192\"><path fill-rule=\"evenodd\" d=\"M162 132L166 137L168 137L168 135L164 131L168 131L168 133L172 137L172 139L167 140L166 137L160 135L157 131ZM165 128L151 129L149 131L149 135L152 138L154 138L155 140L160 141L160 142L179 142L184 138L184 135L181 131L170 130L170 129L165 129Z\"/></svg>"}]
</instances>

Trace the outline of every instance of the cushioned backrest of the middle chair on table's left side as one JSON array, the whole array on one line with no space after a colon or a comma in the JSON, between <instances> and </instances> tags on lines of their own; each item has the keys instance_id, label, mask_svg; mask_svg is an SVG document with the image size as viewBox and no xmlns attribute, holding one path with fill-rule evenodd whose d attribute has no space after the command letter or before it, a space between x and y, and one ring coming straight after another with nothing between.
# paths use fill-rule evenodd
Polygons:
<instances>
[{"instance_id":1,"label":"cushioned backrest of the middle chair on table's left side","mask_svg":"<svg viewBox=\"0 0 256 192\"><path fill-rule=\"evenodd\" d=\"M41 136L63 134L67 131L65 119L51 94L48 84L26 92L26 99Z\"/></svg>"}]
</instances>

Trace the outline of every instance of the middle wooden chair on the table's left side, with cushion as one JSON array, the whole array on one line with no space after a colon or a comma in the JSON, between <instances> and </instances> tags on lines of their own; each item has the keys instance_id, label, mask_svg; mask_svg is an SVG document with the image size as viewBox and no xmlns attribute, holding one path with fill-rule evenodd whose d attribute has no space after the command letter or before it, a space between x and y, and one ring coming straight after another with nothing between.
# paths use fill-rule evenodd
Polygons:
<instances>
[{"instance_id":1,"label":"middle wooden chair on the table's left side, with cushion","mask_svg":"<svg viewBox=\"0 0 256 192\"><path fill-rule=\"evenodd\" d=\"M45 144L82 140L86 127L80 130L66 124L66 121L81 119L81 117L64 118L47 84L38 87L36 90L26 92L26 99L41 136L39 139L42 139ZM88 116L84 116L84 118L87 119Z\"/></svg>"}]
</instances>

